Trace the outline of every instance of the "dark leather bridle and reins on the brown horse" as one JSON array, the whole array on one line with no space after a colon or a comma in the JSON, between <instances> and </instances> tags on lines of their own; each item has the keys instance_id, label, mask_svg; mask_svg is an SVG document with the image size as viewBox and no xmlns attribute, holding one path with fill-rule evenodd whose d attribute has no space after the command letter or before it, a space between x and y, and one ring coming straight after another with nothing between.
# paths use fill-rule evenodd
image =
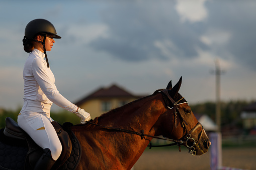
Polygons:
<instances>
[{"instance_id":1,"label":"dark leather bridle and reins on the brown horse","mask_svg":"<svg viewBox=\"0 0 256 170\"><path fill-rule=\"evenodd\" d=\"M190 131L188 130L188 123L185 121L183 115L180 113L180 110L179 110L179 107L178 107L178 103L184 98L182 97L180 100L178 101L175 101L172 97L170 97L170 95L168 94L168 90L167 89L159 89L159 90L156 90L154 93L160 91L160 93L162 94L163 98L164 98L164 101L165 101L165 104L167 105L167 108L168 109L173 109L174 108L174 114L175 114L175 127L177 128L177 114L180 116L181 118L181 122L182 122L182 126L186 129L186 134L181 138L181 139L169 139L169 138L162 138L162 137L157 137L157 136L152 136L152 135L149 135L149 134L144 134L144 130L142 129L141 131L142 132L136 132L136 131L133 131L133 130L127 130L127 129L121 129L121 128L116 128L116 127L109 127L109 126L103 126L103 125L99 125L99 124L95 124L93 122L90 122L90 121L86 121L87 123L90 123L90 124L93 124L93 125L96 125L96 126L100 126L100 127L103 127L103 128L106 128L106 129L112 129L112 130L117 130L117 131L122 131L122 132L126 132L126 133L132 133L132 134L136 134L136 135L139 135L141 136L141 139L145 139L145 136L146 137L151 137L151 138L156 138L156 139L161 139L161 140L168 140L168 141L172 141L174 143L170 143L170 144L166 144L166 145L151 145L151 143L148 145L148 147L161 147L161 146L173 146L173 145L178 145L179 146L179 150L181 151L181 145L182 144L186 144L186 146L190 149L189 150L189 153L192 153L192 155L196 155L196 151L195 151L195 147L197 145L197 143L200 141L201 137L202 137L202 134L203 134L203 126L201 123L197 123L196 126L191 129ZM171 103L170 103L171 102ZM170 104L173 105L172 108L170 108ZM181 103L183 104L183 103ZM194 138L191 137L191 134L196 131L197 128L200 128L202 127L202 130L201 130L201 134L200 134L200 137L198 139L198 141L196 141Z\"/></svg>"}]
</instances>

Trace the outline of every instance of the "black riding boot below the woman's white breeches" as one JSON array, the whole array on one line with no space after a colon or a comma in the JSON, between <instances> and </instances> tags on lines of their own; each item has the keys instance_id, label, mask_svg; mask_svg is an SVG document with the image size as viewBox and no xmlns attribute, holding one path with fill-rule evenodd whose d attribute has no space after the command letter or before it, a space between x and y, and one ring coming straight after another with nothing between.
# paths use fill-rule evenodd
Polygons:
<instances>
[{"instance_id":1,"label":"black riding boot below the woman's white breeches","mask_svg":"<svg viewBox=\"0 0 256 170\"><path fill-rule=\"evenodd\" d=\"M38 159L35 165L35 170L50 170L56 160L53 160L51 151L48 148L44 149L43 155Z\"/></svg>"}]
</instances>

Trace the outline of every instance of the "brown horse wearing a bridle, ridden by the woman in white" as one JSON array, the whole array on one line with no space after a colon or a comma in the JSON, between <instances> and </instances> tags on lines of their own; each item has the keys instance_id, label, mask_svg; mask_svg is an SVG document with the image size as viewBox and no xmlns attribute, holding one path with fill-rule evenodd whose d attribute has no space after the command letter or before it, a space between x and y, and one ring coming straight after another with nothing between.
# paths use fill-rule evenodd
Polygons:
<instances>
[{"instance_id":1,"label":"brown horse wearing a bridle, ridden by the woman in white","mask_svg":"<svg viewBox=\"0 0 256 170\"><path fill-rule=\"evenodd\" d=\"M172 88L128 103L91 120L74 125L74 132L82 147L77 169L131 169L153 136L174 139L185 145L194 155L207 152L210 141L187 101L178 93L182 78ZM102 126L144 130L144 137ZM138 133L141 134L141 133Z\"/></svg>"}]
</instances>

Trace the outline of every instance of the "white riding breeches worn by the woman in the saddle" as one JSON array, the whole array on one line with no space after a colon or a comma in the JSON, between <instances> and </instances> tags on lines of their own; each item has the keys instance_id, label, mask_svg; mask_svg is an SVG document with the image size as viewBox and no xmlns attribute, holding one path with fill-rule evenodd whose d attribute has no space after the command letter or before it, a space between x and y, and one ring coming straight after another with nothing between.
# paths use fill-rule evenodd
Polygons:
<instances>
[{"instance_id":1,"label":"white riding breeches worn by the woman in the saddle","mask_svg":"<svg viewBox=\"0 0 256 170\"><path fill-rule=\"evenodd\" d=\"M25 100L18 116L19 126L43 149L51 150L52 158L57 160L62 146L50 117L51 104Z\"/></svg>"}]
</instances>

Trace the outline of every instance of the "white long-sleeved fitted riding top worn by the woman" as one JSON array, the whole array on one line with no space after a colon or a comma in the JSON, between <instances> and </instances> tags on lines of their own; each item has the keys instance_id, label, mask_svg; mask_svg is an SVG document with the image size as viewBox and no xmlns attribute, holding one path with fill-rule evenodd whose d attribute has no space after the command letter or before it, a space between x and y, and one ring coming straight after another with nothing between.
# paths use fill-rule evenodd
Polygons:
<instances>
[{"instance_id":1,"label":"white long-sleeved fitted riding top worn by the woman","mask_svg":"<svg viewBox=\"0 0 256 170\"><path fill-rule=\"evenodd\" d=\"M33 100L50 105L54 103L74 113L77 106L59 93L54 84L54 75L47 68L44 57L45 54L37 49L29 54L23 70L24 101Z\"/></svg>"}]
</instances>

